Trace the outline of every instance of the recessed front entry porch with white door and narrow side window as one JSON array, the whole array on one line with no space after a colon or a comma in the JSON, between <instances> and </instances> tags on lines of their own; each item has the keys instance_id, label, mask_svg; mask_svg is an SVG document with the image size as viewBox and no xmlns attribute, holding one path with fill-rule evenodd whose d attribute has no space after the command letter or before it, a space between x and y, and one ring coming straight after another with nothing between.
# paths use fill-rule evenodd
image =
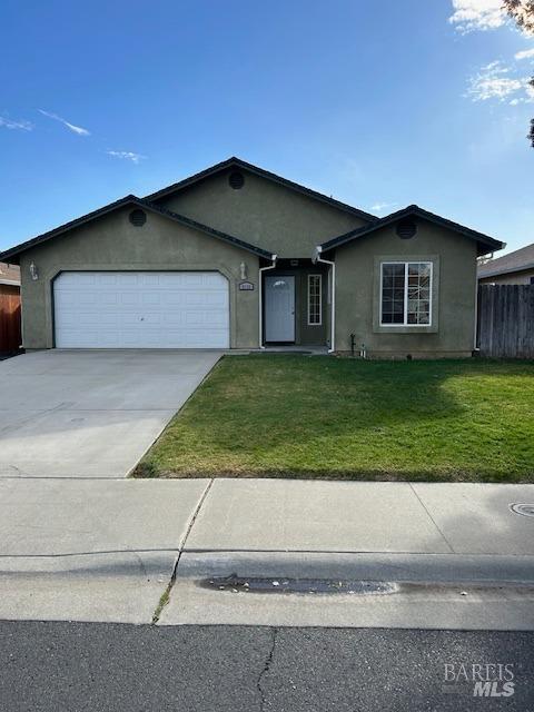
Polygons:
<instances>
[{"instance_id":1,"label":"recessed front entry porch with white door and narrow side window","mask_svg":"<svg viewBox=\"0 0 534 712\"><path fill-rule=\"evenodd\" d=\"M328 269L310 259L281 259L263 274L263 334L266 348L329 345Z\"/></svg>"}]
</instances>

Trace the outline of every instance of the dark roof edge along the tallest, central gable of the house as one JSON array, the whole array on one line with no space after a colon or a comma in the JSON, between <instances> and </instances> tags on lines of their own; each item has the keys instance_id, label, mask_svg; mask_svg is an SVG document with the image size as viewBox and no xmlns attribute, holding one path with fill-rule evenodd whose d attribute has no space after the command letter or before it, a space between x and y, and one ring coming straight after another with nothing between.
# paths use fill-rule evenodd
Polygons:
<instances>
[{"instance_id":1,"label":"dark roof edge along the tallest, central gable of the house","mask_svg":"<svg viewBox=\"0 0 534 712\"><path fill-rule=\"evenodd\" d=\"M267 178L268 180L273 180L274 182L285 186L286 188L290 188L291 190L301 192L306 196L309 196L310 198L315 198L316 200L320 200L322 202L332 205L335 208L339 208L340 210L345 210L346 212L356 215L364 220L373 221L378 219L376 216L370 215L370 212L365 212L364 210L359 210L358 208L355 208L352 205L347 205L346 202L342 202L340 200L336 200L335 198L325 196L324 194L318 192L317 190L313 190L312 188L306 188L305 186L301 186L298 182L294 182L293 180L288 180L287 178L283 178L281 176L277 176L276 174L271 174L270 171L265 170L264 168L259 168L258 166L254 166L253 164L247 164L245 160L241 160L240 158L236 158L236 156L233 156L231 158L228 158L227 160L224 160L220 164L216 164L210 168L206 168L205 170L201 170L199 174L195 174L189 178L185 178L184 180L179 180L178 182L167 186L167 188L161 188L161 190L157 190L156 192L152 192L149 196L146 196L146 199L152 201L152 200L158 200L159 198L165 198L165 196L168 196L171 192L176 192L177 190L182 190L184 188L188 188L189 186L192 186L199 180L204 180L205 178L208 178L209 176L212 176L214 174L218 174L222 170L227 170L228 168L241 168L243 170L248 170L253 174L256 174L257 176L261 176L261 178Z\"/></svg>"}]
</instances>

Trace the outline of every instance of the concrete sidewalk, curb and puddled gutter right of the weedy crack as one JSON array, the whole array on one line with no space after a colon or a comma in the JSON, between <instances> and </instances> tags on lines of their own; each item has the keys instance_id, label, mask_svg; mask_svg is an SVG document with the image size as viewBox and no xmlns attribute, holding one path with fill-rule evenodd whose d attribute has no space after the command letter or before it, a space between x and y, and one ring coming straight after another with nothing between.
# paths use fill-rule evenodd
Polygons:
<instances>
[{"instance_id":1,"label":"concrete sidewalk, curb and puddled gutter right of the weedy crack","mask_svg":"<svg viewBox=\"0 0 534 712\"><path fill-rule=\"evenodd\" d=\"M534 520L510 508L528 502L533 485L215 481L160 623L533 630ZM276 592L303 578L393 592Z\"/></svg>"}]
</instances>

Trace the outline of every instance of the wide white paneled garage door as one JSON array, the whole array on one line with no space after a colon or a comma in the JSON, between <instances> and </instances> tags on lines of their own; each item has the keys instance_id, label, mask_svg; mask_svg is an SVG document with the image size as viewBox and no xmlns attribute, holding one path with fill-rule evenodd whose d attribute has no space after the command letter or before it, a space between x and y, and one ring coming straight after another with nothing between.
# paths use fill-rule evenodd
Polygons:
<instances>
[{"instance_id":1,"label":"wide white paneled garage door","mask_svg":"<svg viewBox=\"0 0 534 712\"><path fill-rule=\"evenodd\" d=\"M66 271L53 283L58 348L228 348L217 271Z\"/></svg>"}]
</instances>

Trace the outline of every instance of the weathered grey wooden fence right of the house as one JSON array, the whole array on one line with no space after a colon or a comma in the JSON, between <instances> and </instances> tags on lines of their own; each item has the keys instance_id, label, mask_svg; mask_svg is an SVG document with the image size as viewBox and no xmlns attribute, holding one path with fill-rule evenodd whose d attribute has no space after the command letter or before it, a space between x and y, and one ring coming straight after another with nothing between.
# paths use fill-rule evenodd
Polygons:
<instances>
[{"instance_id":1,"label":"weathered grey wooden fence right of the house","mask_svg":"<svg viewBox=\"0 0 534 712\"><path fill-rule=\"evenodd\" d=\"M478 286L482 356L534 358L534 285Z\"/></svg>"}]
</instances>

